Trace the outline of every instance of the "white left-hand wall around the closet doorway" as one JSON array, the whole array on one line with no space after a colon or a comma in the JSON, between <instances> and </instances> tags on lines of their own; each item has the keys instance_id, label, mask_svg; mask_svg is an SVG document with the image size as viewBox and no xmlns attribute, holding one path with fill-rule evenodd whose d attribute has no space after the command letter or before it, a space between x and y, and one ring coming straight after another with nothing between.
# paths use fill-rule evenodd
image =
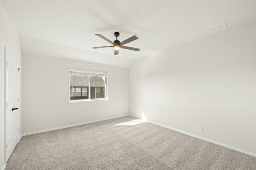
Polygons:
<instances>
[{"instance_id":1,"label":"white left-hand wall around the closet doorway","mask_svg":"<svg viewBox=\"0 0 256 170\"><path fill-rule=\"evenodd\" d=\"M17 31L14 29L10 19L8 18L2 4L0 3L0 168L5 163L4 158L4 81L5 81L5 59L4 59L4 47L6 46L16 57L20 60L19 67L21 68L21 49L20 49L20 41L18 37ZM20 129L21 129L21 72L20 70ZM21 131L20 134L21 135Z\"/></svg>"}]
</instances>

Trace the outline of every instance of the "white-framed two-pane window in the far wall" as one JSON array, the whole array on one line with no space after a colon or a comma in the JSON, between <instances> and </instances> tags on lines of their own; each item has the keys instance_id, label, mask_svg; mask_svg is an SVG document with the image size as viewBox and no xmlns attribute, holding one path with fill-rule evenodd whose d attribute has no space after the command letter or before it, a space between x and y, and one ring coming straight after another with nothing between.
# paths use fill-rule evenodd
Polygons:
<instances>
[{"instance_id":1,"label":"white-framed two-pane window in the far wall","mask_svg":"<svg viewBox=\"0 0 256 170\"><path fill-rule=\"evenodd\" d=\"M70 74L69 103L107 100L106 72L68 69Z\"/></svg>"}]
</instances>

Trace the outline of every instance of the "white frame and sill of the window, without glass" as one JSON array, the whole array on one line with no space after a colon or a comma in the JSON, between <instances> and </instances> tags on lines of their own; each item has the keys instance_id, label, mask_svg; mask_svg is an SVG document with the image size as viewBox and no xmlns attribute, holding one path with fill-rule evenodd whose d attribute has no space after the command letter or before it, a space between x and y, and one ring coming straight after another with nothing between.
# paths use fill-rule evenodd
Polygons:
<instances>
[{"instance_id":1,"label":"white frame and sill of the window, without glass","mask_svg":"<svg viewBox=\"0 0 256 170\"><path fill-rule=\"evenodd\" d=\"M87 96L89 99L83 99L83 100L70 100L70 92L69 92L69 98L68 98L68 103L69 104L78 104L78 103L88 103L88 102L105 102L108 101L108 72L96 72L96 71L86 71L86 70L76 70L76 69L68 69L68 72L82 72L87 74L89 77L90 76L103 76L106 77L105 80L105 98L100 98L100 99L90 99L90 78L89 78L89 88L87 89ZM70 89L70 73L69 74L69 84L68 88ZM70 90L69 90L70 91ZM76 95L76 94L75 94ZM82 96L82 88L81 88L81 96Z\"/></svg>"}]
</instances>

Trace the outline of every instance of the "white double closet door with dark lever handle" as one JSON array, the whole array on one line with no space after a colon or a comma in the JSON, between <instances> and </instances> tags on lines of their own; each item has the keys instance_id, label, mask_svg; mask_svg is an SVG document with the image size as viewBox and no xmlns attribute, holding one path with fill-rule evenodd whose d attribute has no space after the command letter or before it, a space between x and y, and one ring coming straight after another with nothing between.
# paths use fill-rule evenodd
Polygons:
<instances>
[{"instance_id":1,"label":"white double closet door with dark lever handle","mask_svg":"<svg viewBox=\"0 0 256 170\"><path fill-rule=\"evenodd\" d=\"M6 162L18 143L18 61L6 52Z\"/></svg>"}]
</instances>

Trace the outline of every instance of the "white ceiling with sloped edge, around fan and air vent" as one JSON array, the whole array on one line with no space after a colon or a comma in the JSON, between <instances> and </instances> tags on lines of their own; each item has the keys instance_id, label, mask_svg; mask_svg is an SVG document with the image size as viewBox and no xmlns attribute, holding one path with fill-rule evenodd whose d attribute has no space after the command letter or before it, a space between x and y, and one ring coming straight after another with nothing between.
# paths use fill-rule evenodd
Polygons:
<instances>
[{"instance_id":1,"label":"white ceiling with sloped edge, around fan and air vent","mask_svg":"<svg viewBox=\"0 0 256 170\"><path fill-rule=\"evenodd\" d=\"M129 68L136 59L256 20L256 0L0 0L20 35L23 53L79 59ZM226 30L223 29L223 30ZM126 46L112 48L100 33L120 41L136 35ZM218 33L219 31L215 32Z\"/></svg>"}]
</instances>

